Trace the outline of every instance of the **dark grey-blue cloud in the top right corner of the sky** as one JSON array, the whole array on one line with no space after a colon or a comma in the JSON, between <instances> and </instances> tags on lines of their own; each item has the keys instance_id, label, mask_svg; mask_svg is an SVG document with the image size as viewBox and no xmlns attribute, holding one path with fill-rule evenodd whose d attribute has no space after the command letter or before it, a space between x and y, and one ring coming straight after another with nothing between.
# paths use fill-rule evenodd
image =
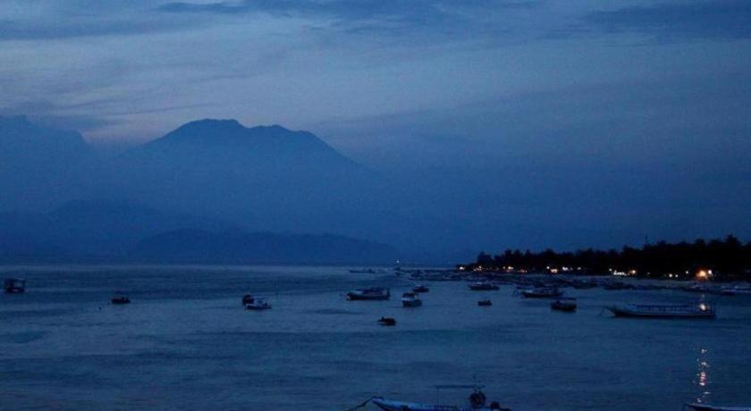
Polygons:
<instances>
[{"instance_id":1,"label":"dark grey-blue cloud in the top right corner of the sky","mask_svg":"<svg viewBox=\"0 0 751 411\"><path fill-rule=\"evenodd\" d=\"M583 21L600 32L645 34L665 41L751 38L751 2L713 0L630 6L588 13ZM569 34L581 32L572 29Z\"/></svg>"}]
</instances>

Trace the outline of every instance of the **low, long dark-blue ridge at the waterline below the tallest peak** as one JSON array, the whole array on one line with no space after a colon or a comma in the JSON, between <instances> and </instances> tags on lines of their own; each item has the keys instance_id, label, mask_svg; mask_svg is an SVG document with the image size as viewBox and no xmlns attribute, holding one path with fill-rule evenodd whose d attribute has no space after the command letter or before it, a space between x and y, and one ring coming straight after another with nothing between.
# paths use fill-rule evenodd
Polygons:
<instances>
[{"instance_id":1,"label":"low, long dark-blue ridge at the waterline below the tallest peak","mask_svg":"<svg viewBox=\"0 0 751 411\"><path fill-rule=\"evenodd\" d=\"M176 230L143 239L130 256L191 264L391 264L398 253L384 244L333 235Z\"/></svg>"}]
</instances>

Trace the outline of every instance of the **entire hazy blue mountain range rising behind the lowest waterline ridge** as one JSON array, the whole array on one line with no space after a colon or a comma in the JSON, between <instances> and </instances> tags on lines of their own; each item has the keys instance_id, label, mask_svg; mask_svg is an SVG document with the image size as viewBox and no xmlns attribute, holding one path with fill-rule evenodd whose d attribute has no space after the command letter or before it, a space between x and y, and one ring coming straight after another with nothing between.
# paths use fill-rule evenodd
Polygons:
<instances>
[{"instance_id":1,"label":"entire hazy blue mountain range rising behind the lowest waterline ridge","mask_svg":"<svg viewBox=\"0 0 751 411\"><path fill-rule=\"evenodd\" d=\"M444 241L446 224L456 225L453 215L431 214L432 196L278 125L189 122L103 159L76 132L0 118L0 148L0 212L36 212L24 218L38 220L0 237L19 239L31 254L124 256L158 233L228 228L425 251ZM10 215L0 223L13 223Z\"/></svg>"}]
</instances>

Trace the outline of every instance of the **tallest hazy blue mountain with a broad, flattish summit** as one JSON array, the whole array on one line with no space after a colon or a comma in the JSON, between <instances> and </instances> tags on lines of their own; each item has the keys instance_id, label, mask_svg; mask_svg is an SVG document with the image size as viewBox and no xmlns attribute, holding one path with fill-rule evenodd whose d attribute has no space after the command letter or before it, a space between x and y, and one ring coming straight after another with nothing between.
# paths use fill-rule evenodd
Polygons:
<instances>
[{"instance_id":1,"label":"tallest hazy blue mountain with a broad, flattish summit","mask_svg":"<svg viewBox=\"0 0 751 411\"><path fill-rule=\"evenodd\" d=\"M187 123L111 168L100 194L257 231L367 235L374 224L361 226L373 222L384 191L375 173L309 132L234 120Z\"/></svg>"}]
</instances>

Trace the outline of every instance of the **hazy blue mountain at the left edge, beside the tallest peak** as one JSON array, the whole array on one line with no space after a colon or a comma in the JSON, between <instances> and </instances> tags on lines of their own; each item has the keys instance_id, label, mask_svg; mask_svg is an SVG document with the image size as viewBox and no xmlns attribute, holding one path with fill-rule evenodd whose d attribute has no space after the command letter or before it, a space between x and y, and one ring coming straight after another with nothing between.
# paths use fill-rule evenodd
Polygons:
<instances>
[{"instance_id":1,"label":"hazy blue mountain at the left edge, beside the tallest peak","mask_svg":"<svg viewBox=\"0 0 751 411\"><path fill-rule=\"evenodd\" d=\"M82 195L92 161L75 131L0 117L0 210L44 210Z\"/></svg>"}]
</instances>

